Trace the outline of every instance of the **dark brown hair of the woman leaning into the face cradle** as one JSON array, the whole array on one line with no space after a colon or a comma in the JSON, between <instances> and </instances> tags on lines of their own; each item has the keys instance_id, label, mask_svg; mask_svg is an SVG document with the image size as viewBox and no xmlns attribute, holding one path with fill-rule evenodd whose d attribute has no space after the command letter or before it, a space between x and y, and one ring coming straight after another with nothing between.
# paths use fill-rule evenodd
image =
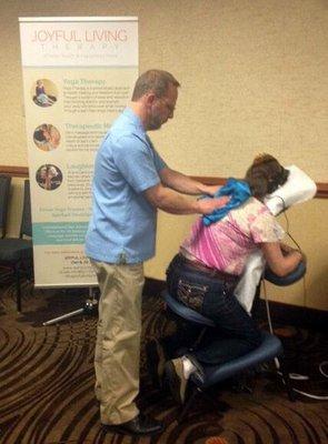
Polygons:
<instances>
[{"instance_id":1,"label":"dark brown hair of the woman leaning into the face cradle","mask_svg":"<svg viewBox=\"0 0 328 444\"><path fill-rule=\"evenodd\" d=\"M246 172L245 181L249 184L251 194L262 200L266 194L276 191L286 183L289 171L270 154L255 158Z\"/></svg>"}]
</instances>

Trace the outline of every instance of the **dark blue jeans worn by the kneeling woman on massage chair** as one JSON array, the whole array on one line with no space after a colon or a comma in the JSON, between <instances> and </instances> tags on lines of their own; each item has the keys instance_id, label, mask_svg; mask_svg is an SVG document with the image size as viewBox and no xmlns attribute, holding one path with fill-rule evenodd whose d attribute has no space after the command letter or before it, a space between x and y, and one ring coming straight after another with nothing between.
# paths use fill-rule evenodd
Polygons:
<instances>
[{"instance_id":1,"label":"dark blue jeans worn by the kneeling woman on massage chair","mask_svg":"<svg viewBox=\"0 0 328 444\"><path fill-rule=\"evenodd\" d=\"M229 278L229 276L227 276ZM222 364L249 353L261 340L255 321L233 295L237 279L197 270L176 255L167 270L171 296L212 320L200 346L192 354L201 363Z\"/></svg>"}]
</instances>

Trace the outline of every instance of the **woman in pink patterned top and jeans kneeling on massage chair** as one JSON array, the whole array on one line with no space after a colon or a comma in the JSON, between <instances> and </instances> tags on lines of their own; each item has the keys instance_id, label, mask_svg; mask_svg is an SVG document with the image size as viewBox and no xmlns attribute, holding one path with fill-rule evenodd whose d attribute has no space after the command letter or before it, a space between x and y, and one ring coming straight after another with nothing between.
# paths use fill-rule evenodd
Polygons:
<instances>
[{"instance_id":1,"label":"woman in pink patterned top and jeans kneeling on massage chair","mask_svg":"<svg viewBox=\"0 0 328 444\"><path fill-rule=\"evenodd\" d=\"M281 243L284 230L264 204L282 185L288 171L269 154L255 159L243 181L229 180L220 194L230 195L225 210L200 218L167 270L169 293L217 325L201 347L166 364L176 400L183 402L188 377L202 377L201 364L220 364L249 353L260 344L260 332L233 295L250 253L261 249L279 276L302 260Z\"/></svg>"}]
</instances>

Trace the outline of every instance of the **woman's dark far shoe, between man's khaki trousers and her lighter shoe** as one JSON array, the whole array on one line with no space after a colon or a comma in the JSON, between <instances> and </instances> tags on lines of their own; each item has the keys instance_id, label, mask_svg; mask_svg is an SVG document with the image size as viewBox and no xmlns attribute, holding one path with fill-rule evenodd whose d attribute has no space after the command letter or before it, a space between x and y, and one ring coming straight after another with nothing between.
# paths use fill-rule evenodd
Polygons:
<instances>
[{"instance_id":1,"label":"woman's dark far shoe, between man's khaki trousers and her lighter shoe","mask_svg":"<svg viewBox=\"0 0 328 444\"><path fill-rule=\"evenodd\" d=\"M147 367L155 389L162 389L165 364L167 361L163 347L158 340L151 340L146 344Z\"/></svg>"}]
</instances>

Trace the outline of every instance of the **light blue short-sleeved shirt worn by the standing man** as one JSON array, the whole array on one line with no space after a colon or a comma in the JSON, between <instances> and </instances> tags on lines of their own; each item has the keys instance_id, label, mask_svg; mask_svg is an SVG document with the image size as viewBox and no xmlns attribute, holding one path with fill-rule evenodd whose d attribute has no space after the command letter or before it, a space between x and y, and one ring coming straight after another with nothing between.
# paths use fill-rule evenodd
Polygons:
<instances>
[{"instance_id":1,"label":"light blue short-sleeved shirt worn by the standing man","mask_svg":"<svg viewBox=\"0 0 328 444\"><path fill-rule=\"evenodd\" d=\"M138 263L155 254L157 210L143 191L160 182L167 167L141 121L127 108L98 150L87 256L108 263Z\"/></svg>"}]
</instances>

